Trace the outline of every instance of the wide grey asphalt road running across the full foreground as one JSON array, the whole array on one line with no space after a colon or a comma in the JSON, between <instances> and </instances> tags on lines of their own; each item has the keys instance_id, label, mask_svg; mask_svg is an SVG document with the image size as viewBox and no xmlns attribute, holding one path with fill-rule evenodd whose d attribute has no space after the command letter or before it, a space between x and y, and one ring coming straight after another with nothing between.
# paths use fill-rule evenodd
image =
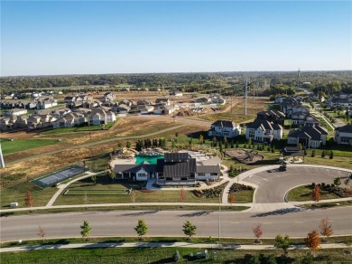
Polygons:
<instances>
[{"instance_id":1,"label":"wide grey asphalt road running across the full foreground","mask_svg":"<svg viewBox=\"0 0 352 264\"><path fill-rule=\"evenodd\" d=\"M115 211L67 212L18 215L0 218L1 240L38 239L38 226L47 238L79 237L79 226L87 220L92 227L91 236L135 236L134 227L139 219L149 226L149 236L183 236L182 224L189 220L197 226L198 236L218 237L218 212L193 211ZM319 228L324 217L329 217L334 235L352 233L352 207L329 210L299 209L274 212L220 212L221 237L253 238L252 227L262 223L264 238L277 234L305 237Z\"/></svg>"}]
</instances>

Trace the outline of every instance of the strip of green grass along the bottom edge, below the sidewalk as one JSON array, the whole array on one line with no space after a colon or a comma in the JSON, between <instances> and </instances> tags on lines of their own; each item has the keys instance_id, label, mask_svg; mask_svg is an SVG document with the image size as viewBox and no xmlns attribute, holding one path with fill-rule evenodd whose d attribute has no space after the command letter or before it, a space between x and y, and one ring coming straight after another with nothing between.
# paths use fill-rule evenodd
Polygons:
<instances>
[{"instance_id":1,"label":"strip of green grass along the bottom edge, below the sidewalk","mask_svg":"<svg viewBox=\"0 0 352 264\"><path fill-rule=\"evenodd\" d=\"M290 250L288 256L283 258L282 250L213 250L208 249L209 259L190 259L190 253L195 255L205 249L191 248L119 248L119 249L75 249L75 250L32 250L26 252L2 253L3 263L174 263L172 258L178 250L181 259L178 263L250 263L253 255L263 257L273 254L277 263L290 264L296 262L307 254L308 250ZM217 260L213 259L214 252ZM343 249L319 250L315 253L314 261L317 263L350 263L351 256ZM257 262L253 262L257 263ZM264 263L264 262L262 262ZM269 262L267 262L269 263ZM272 263L272 262L270 262ZM305 262L309 263L309 262ZM310 262L311 263L311 262ZM316 263L316 262L314 262Z\"/></svg>"}]
</instances>

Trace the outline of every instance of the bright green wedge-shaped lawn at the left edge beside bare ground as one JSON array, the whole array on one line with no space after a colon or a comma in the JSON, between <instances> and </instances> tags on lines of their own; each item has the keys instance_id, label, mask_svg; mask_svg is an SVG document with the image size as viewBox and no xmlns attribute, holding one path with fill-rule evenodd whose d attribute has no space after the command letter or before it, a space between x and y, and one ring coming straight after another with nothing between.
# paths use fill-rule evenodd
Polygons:
<instances>
[{"instance_id":1,"label":"bright green wedge-shaped lawn at the left edge beside bare ground","mask_svg":"<svg viewBox=\"0 0 352 264\"><path fill-rule=\"evenodd\" d=\"M4 138L1 138L0 142L4 155L59 143L57 139L14 139L11 141Z\"/></svg>"}]
</instances>

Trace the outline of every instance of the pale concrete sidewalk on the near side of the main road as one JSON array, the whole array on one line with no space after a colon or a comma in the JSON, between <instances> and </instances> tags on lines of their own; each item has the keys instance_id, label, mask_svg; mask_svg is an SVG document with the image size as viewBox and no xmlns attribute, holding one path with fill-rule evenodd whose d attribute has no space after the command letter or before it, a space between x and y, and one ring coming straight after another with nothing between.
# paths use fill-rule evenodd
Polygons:
<instances>
[{"instance_id":1,"label":"pale concrete sidewalk on the near side of the main road","mask_svg":"<svg viewBox=\"0 0 352 264\"><path fill-rule=\"evenodd\" d=\"M192 244L186 242L159 243L75 243L75 244L49 244L33 245L13 248L1 248L0 253L32 251L32 250L64 250L64 249L113 249L113 248L192 248L192 249L217 249L217 250L276 250L273 245L222 245L222 244ZM320 244L320 249L346 249L344 243ZM308 250L305 245L293 245L289 250Z\"/></svg>"}]
</instances>

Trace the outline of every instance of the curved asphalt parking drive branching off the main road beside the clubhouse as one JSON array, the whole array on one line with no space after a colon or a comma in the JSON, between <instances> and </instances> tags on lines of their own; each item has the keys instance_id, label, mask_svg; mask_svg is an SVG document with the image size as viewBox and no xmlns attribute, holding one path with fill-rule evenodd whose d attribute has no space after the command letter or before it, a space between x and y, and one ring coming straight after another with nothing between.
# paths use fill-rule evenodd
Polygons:
<instances>
[{"instance_id":1,"label":"curved asphalt parking drive branching off the main road beside the clubhouse","mask_svg":"<svg viewBox=\"0 0 352 264\"><path fill-rule=\"evenodd\" d=\"M333 184L337 177L343 182L347 175L347 172L338 169L289 166L285 172L268 170L250 175L243 182L259 186L255 192L255 203L283 203L287 190L296 186L311 183Z\"/></svg>"}]
</instances>

